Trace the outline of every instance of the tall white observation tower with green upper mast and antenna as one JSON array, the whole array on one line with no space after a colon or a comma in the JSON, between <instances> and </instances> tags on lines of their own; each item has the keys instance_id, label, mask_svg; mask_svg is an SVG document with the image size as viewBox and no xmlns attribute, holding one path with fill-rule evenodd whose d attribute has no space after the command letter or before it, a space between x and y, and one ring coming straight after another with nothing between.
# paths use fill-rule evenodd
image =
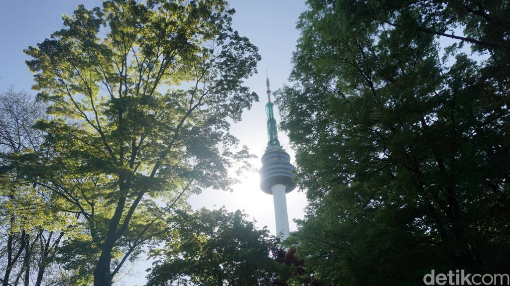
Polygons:
<instances>
[{"instance_id":1,"label":"tall white observation tower with green upper mast and antenna","mask_svg":"<svg viewBox=\"0 0 510 286\"><path fill-rule=\"evenodd\" d=\"M266 152L262 156L260 173L260 188L263 192L273 195L274 219L276 221L276 235L282 239L289 236L289 215L287 214L287 199L285 194L296 188L294 183L294 166L290 163L290 156L280 145L276 130L276 120L273 116L271 89L269 77L266 75L267 85L267 143Z\"/></svg>"}]
</instances>

